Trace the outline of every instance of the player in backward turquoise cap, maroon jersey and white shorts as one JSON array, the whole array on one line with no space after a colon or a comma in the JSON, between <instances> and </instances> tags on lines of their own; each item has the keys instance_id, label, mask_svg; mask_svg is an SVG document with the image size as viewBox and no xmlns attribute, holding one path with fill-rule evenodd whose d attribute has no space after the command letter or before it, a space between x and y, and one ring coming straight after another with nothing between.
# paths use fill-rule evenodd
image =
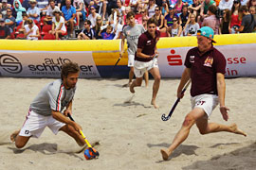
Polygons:
<instances>
[{"instance_id":1,"label":"player in backward turquoise cap, maroon jersey and white shorts","mask_svg":"<svg viewBox=\"0 0 256 170\"><path fill-rule=\"evenodd\" d=\"M192 48L187 53L186 68L181 76L177 97L183 97L182 89L191 78L192 111L186 115L182 127L174 137L173 144L167 150L161 149L162 158L165 161L169 159L174 149L188 138L194 124L201 134L227 131L247 136L236 124L226 126L208 122L212 110L218 103L223 119L226 121L229 119L229 108L225 106L226 59L212 46L213 35L213 30L209 26L201 27L197 32L198 47Z\"/></svg>"}]
</instances>

